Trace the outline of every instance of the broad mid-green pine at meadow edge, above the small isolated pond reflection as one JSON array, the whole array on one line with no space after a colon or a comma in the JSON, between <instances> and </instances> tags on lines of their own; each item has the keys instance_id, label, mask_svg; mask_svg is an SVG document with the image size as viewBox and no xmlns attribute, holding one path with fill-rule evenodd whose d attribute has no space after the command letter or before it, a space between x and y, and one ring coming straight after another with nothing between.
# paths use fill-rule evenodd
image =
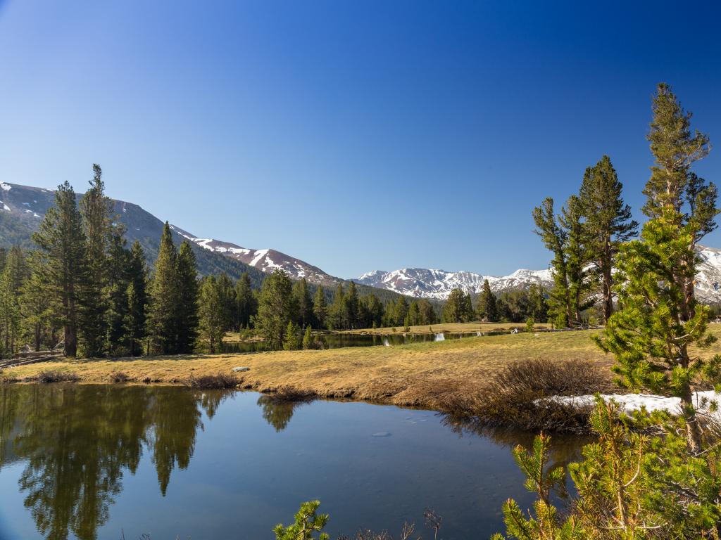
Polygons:
<instances>
[{"instance_id":1,"label":"broad mid-green pine at meadow edge, above the small isolated pond reflection","mask_svg":"<svg viewBox=\"0 0 721 540\"><path fill-rule=\"evenodd\" d=\"M260 330L268 348L283 347L288 323L293 316L293 285L286 272L275 269L263 280L258 301L255 328Z\"/></svg>"}]
</instances>

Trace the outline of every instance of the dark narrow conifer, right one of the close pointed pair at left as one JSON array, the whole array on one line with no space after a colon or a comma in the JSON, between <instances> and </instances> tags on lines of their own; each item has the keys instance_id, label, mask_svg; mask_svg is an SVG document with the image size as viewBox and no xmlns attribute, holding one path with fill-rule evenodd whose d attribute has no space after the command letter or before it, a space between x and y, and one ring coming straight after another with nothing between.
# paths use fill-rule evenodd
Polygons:
<instances>
[{"instance_id":1,"label":"dark narrow conifer, right one of the close pointed pair at left","mask_svg":"<svg viewBox=\"0 0 721 540\"><path fill-rule=\"evenodd\" d=\"M190 242L183 240L177 258L180 310L177 313L177 351L189 354L198 339L198 269Z\"/></svg>"}]
</instances>

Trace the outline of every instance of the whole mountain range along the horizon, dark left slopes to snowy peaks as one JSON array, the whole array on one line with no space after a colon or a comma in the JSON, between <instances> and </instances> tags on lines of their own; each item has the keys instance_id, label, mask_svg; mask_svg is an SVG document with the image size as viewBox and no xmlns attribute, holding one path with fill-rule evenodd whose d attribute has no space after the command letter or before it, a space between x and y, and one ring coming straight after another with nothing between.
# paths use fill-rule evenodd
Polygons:
<instances>
[{"instance_id":1,"label":"whole mountain range along the horizon, dark left slopes to snowy peaks","mask_svg":"<svg viewBox=\"0 0 721 540\"><path fill-rule=\"evenodd\" d=\"M81 194L78 194L80 197ZM0 247L19 244L32 247L31 236L40 225L45 211L54 203L54 193L48 189L0 182ZM115 212L123 222L128 243L138 240L150 262L154 261L159 248L163 222L137 204L115 200ZM251 277L255 287L262 282L263 274L282 269L291 278L335 287L345 279L331 276L319 267L274 249L244 248L235 243L214 238L202 238L171 225L174 239L193 243L198 271L201 274L226 272L237 278L243 272ZM696 291L707 302L721 302L721 250L699 248L702 264L696 280ZM485 276L468 271L410 268L391 272L375 270L353 281L361 286L361 293L374 289L381 297L404 294L410 297L445 300L451 290L460 288L477 294L488 280L491 290L500 293L513 289L527 289L531 284L551 287L551 272L546 270L516 270L508 276ZM369 289L366 289L368 287Z\"/></svg>"}]
</instances>

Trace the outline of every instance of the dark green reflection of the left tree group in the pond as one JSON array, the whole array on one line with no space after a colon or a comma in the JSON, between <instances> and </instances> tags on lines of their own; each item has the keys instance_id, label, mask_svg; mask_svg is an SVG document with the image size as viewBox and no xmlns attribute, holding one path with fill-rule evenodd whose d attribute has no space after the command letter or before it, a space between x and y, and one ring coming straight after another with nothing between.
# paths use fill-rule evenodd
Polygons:
<instances>
[{"instance_id":1,"label":"dark green reflection of the left tree group in the pond","mask_svg":"<svg viewBox=\"0 0 721 540\"><path fill-rule=\"evenodd\" d=\"M0 386L2 465L22 460L24 504L47 539L94 539L123 489L151 453L165 495L175 467L185 469L203 429L228 393L162 387L53 384Z\"/></svg>"}]
</instances>

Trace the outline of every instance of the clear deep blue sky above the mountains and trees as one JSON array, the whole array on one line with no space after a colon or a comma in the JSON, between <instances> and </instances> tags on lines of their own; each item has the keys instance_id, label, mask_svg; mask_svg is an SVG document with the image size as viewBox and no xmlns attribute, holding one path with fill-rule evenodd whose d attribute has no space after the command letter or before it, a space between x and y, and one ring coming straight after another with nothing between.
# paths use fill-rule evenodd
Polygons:
<instances>
[{"instance_id":1,"label":"clear deep blue sky above the mountains and trees","mask_svg":"<svg viewBox=\"0 0 721 540\"><path fill-rule=\"evenodd\" d=\"M112 197L344 277L545 268L531 208L603 153L642 204L659 81L721 146L714 3L585 4L0 0L0 180L97 162Z\"/></svg>"}]
</instances>

